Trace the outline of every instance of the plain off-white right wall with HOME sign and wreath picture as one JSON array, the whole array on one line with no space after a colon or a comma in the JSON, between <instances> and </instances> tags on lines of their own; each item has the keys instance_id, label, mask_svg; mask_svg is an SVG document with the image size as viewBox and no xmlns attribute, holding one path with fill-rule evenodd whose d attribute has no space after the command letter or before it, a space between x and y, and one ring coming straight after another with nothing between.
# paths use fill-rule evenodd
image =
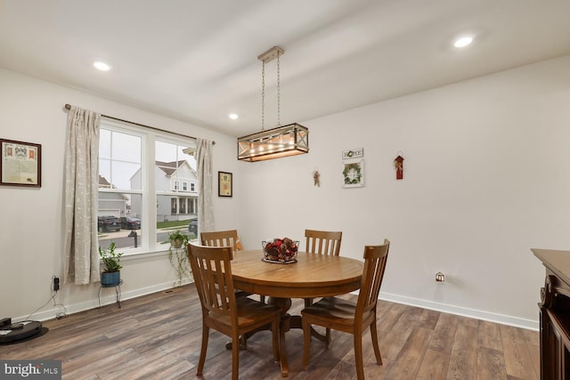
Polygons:
<instances>
[{"instance_id":1,"label":"plain off-white right wall with HOME sign and wreath picture","mask_svg":"<svg viewBox=\"0 0 570 380\"><path fill-rule=\"evenodd\" d=\"M240 163L246 248L342 230L341 255L362 258L387 238L384 298L538 327L530 248L570 249L570 56L302 124L308 155ZM365 186L343 189L353 148Z\"/></svg>"}]
</instances>

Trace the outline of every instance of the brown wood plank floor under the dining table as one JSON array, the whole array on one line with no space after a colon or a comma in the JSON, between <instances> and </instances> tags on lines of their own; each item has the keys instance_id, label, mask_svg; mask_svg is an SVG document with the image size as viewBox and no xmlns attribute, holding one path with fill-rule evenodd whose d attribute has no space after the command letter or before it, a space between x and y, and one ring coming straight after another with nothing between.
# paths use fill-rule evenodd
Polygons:
<instances>
[{"instance_id":1,"label":"brown wood plank floor under the dining table","mask_svg":"<svg viewBox=\"0 0 570 380\"><path fill-rule=\"evenodd\" d=\"M44 322L49 332L28 342L0 345L3 360L62 360L64 379L192 379L201 339L195 288L127 300L101 309ZM347 295L354 297L354 295ZM294 300L298 313L301 300ZM377 366L370 333L363 337L364 373L371 379L538 379L539 336L535 331L428 311L399 303L379 303ZM230 378L227 337L210 333L205 379ZM311 364L301 370L302 330L287 333L289 378L352 379L352 336L332 332L328 350L314 340ZM240 378L280 379L273 364L271 335L260 332L240 352Z\"/></svg>"}]
</instances>

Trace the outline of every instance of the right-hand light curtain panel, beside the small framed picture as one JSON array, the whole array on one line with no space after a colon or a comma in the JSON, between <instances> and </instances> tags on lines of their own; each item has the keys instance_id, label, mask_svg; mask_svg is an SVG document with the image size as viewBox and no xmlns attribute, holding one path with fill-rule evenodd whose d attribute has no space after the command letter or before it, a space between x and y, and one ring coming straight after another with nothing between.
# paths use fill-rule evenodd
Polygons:
<instances>
[{"instance_id":1,"label":"right-hand light curtain panel, beside the small framed picture","mask_svg":"<svg viewBox=\"0 0 570 380\"><path fill-rule=\"evenodd\" d=\"M212 141L196 139L198 168L198 230L214 230L212 209Z\"/></svg>"}]
</instances>

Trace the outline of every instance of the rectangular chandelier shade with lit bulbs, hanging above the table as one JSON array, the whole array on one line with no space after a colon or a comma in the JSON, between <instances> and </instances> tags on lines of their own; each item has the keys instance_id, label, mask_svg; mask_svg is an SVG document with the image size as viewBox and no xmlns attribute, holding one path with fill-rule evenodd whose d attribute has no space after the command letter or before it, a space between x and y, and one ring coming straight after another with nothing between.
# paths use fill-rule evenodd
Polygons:
<instances>
[{"instance_id":1,"label":"rectangular chandelier shade with lit bulbs, hanging above the table","mask_svg":"<svg viewBox=\"0 0 570 380\"><path fill-rule=\"evenodd\" d=\"M308 152L309 130L297 123L238 138L238 159L240 161L264 161Z\"/></svg>"}]
</instances>

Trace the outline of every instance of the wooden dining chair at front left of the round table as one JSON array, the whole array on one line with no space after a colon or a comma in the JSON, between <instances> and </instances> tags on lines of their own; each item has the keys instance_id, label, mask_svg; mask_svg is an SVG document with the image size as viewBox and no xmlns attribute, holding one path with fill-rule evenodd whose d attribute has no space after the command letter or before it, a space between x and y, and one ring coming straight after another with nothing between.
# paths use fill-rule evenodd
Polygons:
<instances>
[{"instance_id":1,"label":"wooden dining chair at front left of the round table","mask_svg":"<svg viewBox=\"0 0 570 380\"><path fill-rule=\"evenodd\" d=\"M279 361L281 310L248 297L236 298L232 279L232 248L200 247L193 244L187 248L202 309L202 344L196 375L201 376L204 369L210 328L232 338L234 380L238 379L240 368L240 336L259 327L271 325L273 360Z\"/></svg>"}]
</instances>

